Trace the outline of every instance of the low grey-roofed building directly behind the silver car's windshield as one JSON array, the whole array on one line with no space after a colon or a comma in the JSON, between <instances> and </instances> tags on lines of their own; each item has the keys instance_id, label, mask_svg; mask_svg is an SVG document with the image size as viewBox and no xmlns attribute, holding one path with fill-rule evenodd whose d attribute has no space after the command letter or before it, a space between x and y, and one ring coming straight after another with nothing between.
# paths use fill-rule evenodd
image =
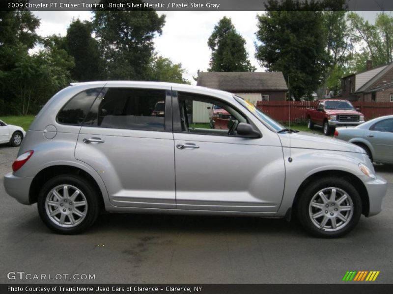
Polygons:
<instances>
[{"instance_id":1,"label":"low grey-roofed building directly behind the silver car's windshield","mask_svg":"<svg viewBox=\"0 0 393 294\"><path fill-rule=\"evenodd\" d=\"M281 72L212 72L198 74L197 86L224 90L246 98L285 101L288 87Z\"/></svg>"}]
</instances>

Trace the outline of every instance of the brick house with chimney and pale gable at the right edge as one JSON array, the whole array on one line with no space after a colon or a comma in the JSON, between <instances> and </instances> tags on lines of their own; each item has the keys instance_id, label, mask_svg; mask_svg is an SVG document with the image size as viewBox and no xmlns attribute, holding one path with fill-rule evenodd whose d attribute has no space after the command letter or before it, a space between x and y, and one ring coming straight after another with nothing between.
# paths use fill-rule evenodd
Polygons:
<instances>
[{"instance_id":1,"label":"brick house with chimney and pale gable at the right edge","mask_svg":"<svg viewBox=\"0 0 393 294\"><path fill-rule=\"evenodd\" d=\"M393 63L377 68L367 60L367 70L341 79L341 97L350 101L393 102Z\"/></svg>"}]
</instances>

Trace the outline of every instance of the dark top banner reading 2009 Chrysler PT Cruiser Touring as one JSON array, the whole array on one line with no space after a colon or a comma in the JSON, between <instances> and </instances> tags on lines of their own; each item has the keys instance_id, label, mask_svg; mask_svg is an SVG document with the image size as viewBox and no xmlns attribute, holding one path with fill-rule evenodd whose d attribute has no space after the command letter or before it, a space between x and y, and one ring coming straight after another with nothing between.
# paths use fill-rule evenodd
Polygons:
<instances>
[{"instance_id":1,"label":"dark top banner reading 2009 Chrysler PT Cruiser Touring","mask_svg":"<svg viewBox=\"0 0 393 294\"><path fill-rule=\"evenodd\" d=\"M307 1L307 5L302 5ZM1 0L0 10L261 11L268 0ZM277 0L281 3L282 0ZM293 2L295 3L295 1ZM282 6L281 6L282 7ZM393 10L392 0L300 0L282 10Z\"/></svg>"}]
</instances>

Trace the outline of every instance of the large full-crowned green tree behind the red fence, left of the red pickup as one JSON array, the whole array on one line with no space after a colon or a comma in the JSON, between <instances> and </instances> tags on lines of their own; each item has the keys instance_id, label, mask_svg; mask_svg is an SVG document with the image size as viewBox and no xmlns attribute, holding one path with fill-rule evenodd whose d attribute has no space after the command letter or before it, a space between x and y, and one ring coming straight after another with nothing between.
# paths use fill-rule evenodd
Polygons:
<instances>
[{"instance_id":1,"label":"large full-crowned green tree behind the red fence, left of the red pickup","mask_svg":"<svg viewBox=\"0 0 393 294\"><path fill-rule=\"evenodd\" d=\"M269 9L257 19L256 37L261 43L256 45L255 57L261 66L290 76L296 100L310 96L321 82L327 58L322 12Z\"/></svg>"}]
</instances>

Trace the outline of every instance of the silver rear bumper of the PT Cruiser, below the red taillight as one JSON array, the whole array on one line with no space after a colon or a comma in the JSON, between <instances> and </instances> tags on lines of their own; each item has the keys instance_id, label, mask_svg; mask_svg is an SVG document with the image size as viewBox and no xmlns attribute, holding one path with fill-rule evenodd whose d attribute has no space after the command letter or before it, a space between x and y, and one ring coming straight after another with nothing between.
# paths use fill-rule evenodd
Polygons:
<instances>
[{"instance_id":1,"label":"silver rear bumper of the PT Cruiser, below the red taillight","mask_svg":"<svg viewBox=\"0 0 393 294\"><path fill-rule=\"evenodd\" d=\"M15 176L12 172L4 175L5 192L22 204L30 205L28 198L32 177Z\"/></svg>"}]
</instances>

